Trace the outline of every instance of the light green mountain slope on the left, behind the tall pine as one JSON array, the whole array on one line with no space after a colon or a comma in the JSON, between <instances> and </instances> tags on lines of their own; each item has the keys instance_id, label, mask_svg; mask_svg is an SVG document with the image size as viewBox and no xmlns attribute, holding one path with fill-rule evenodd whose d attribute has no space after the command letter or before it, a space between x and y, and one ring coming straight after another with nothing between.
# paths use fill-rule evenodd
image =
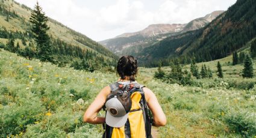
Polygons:
<instances>
[{"instance_id":1,"label":"light green mountain slope on the left, behind the tall pine","mask_svg":"<svg viewBox=\"0 0 256 138\"><path fill-rule=\"evenodd\" d=\"M31 8L19 4L13 0L0 1L0 44L8 45L10 39L14 39L20 50L26 47L34 47L36 44L31 32L29 22ZM110 64L118 58L110 50L101 44L88 38L86 35L76 32L60 22L49 18L49 35L54 49L54 60L57 64L72 64L73 61L81 61L87 58L90 64ZM4 46L2 46L4 47ZM5 46L6 47L6 46ZM99 63L99 61L102 61Z\"/></svg>"}]
</instances>

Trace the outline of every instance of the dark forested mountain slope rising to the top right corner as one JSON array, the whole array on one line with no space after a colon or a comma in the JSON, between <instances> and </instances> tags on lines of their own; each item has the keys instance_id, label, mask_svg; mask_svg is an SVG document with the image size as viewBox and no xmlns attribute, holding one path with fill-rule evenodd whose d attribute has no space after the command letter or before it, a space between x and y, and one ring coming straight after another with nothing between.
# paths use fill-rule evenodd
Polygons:
<instances>
[{"instance_id":1,"label":"dark forested mountain slope rising to the top right corner","mask_svg":"<svg viewBox=\"0 0 256 138\"><path fill-rule=\"evenodd\" d=\"M211 61L231 55L236 50L251 45L256 37L256 1L238 0L225 13L204 28L167 37L132 55L143 64L158 65L178 58L187 63ZM151 66L151 65L149 65Z\"/></svg>"}]
</instances>

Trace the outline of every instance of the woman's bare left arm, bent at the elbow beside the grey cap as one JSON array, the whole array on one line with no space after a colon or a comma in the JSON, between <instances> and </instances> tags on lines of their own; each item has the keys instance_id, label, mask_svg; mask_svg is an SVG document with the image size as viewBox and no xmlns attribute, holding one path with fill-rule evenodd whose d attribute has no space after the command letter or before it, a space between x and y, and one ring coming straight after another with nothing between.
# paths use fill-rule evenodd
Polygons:
<instances>
[{"instance_id":1,"label":"woman's bare left arm, bent at the elbow beside the grey cap","mask_svg":"<svg viewBox=\"0 0 256 138\"><path fill-rule=\"evenodd\" d=\"M98 112L104 105L107 95L110 94L110 86L106 86L99 92L95 100L88 107L84 113L84 122L89 122L90 124L104 124L105 118L97 117Z\"/></svg>"}]
</instances>

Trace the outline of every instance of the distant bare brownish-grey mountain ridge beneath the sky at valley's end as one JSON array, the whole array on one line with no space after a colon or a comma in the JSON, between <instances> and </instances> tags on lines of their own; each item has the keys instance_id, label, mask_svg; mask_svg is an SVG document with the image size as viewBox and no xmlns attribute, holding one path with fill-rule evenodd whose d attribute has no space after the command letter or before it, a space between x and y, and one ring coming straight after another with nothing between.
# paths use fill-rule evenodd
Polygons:
<instances>
[{"instance_id":1,"label":"distant bare brownish-grey mountain ridge beneath the sky at valley's end","mask_svg":"<svg viewBox=\"0 0 256 138\"><path fill-rule=\"evenodd\" d=\"M121 56L123 54L131 54L130 51L141 49L141 47L150 46L164 38L181 34L182 32L199 29L210 23L223 11L214 11L187 24L155 24L149 25L147 28L138 32L125 33L104 41L99 41L112 52ZM131 49L131 47L133 47ZM140 47L140 48L139 48Z\"/></svg>"}]
</instances>

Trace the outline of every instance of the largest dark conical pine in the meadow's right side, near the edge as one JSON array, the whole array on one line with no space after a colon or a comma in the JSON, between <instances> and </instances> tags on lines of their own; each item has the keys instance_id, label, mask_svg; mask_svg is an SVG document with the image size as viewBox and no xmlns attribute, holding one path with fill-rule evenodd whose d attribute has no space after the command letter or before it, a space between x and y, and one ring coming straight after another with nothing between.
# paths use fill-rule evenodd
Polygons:
<instances>
[{"instance_id":1,"label":"largest dark conical pine in the meadow's right side, near the edge","mask_svg":"<svg viewBox=\"0 0 256 138\"><path fill-rule=\"evenodd\" d=\"M245 56L244 68L243 68L243 77L254 77L254 68L252 66L252 59L249 55Z\"/></svg>"}]
</instances>

